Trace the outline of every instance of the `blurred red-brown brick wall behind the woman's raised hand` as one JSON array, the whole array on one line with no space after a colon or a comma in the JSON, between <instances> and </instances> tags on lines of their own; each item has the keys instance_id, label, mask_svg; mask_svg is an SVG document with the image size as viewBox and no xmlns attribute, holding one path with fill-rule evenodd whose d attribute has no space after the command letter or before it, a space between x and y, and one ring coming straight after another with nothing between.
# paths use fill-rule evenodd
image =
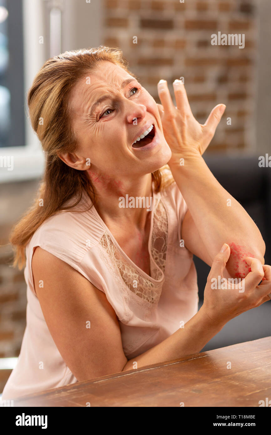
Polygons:
<instances>
[{"instance_id":1,"label":"blurred red-brown brick wall behind the woman's raised hand","mask_svg":"<svg viewBox=\"0 0 271 435\"><path fill-rule=\"evenodd\" d=\"M207 152L254 149L257 0L104 0L104 41L120 47L160 103L157 82L184 77L196 119L227 105ZM212 46L212 33L244 33L245 47ZM137 43L133 43L134 36ZM231 125L227 125L231 117Z\"/></svg>"}]
</instances>

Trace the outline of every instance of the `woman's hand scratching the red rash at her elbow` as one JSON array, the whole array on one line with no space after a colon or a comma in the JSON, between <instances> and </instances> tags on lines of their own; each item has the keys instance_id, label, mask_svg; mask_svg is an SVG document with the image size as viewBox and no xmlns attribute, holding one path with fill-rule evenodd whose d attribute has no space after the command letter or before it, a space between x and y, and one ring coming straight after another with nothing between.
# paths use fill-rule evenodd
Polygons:
<instances>
[{"instance_id":1,"label":"woman's hand scratching the red rash at her elbow","mask_svg":"<svg viewBox=\"0 0 271 435\"><path fill-rule=\"evenodd\" d=\"M244 311L270 301L268 293L271 293L271 266L262 265L257 258L245 258L251 272L242 281L238 280L239 288L238 285L230 284L227 278L224 278L226 288L223 288L223 284L219 285L230 253L231 249L227 245L224 252L220 251L216 255L204 290L201 311L217 325L225 325ZM258 285L261 280L263 281ZM217 288L214 288L216 283Z\"/></svg>"}]
</instances>

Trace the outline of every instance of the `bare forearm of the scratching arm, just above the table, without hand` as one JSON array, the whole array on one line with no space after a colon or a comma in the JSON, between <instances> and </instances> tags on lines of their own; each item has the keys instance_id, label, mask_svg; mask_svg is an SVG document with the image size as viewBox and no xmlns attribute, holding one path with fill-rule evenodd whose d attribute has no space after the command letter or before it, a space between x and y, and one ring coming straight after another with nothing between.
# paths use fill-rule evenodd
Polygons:
<instances>
[{"instance_id":1,"label":"bare forearm of the scratching arm, just above the table, without hand","mask_svg":"<svg viewBox=\"0 0 271 435\"><path fill-rule=\"evenodd\" d=\"M122 371L133 369L135 361L137 368L139 368L198 353L214 335L221 331L223 326L224 323L215 325L201 308L194 317L185 323L184 328L178 329L166 340L161 341L143 354L128 360Z\"/></svg>"}]
</instances>

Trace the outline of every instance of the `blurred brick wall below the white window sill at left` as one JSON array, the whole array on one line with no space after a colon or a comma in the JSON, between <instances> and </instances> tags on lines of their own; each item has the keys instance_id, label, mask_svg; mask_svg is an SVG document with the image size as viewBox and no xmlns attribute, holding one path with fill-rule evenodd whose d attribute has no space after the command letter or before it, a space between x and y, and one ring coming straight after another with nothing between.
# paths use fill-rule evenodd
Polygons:
<instances>
[{"instance_id":1,"label":"blurred brick wall below the white window sill at left","mask_svg":"<svg viewBox=\"0 0 271 435\"><path fill-rule=\"evenodd\" d=\"M26 283L23 270L11 266L11 228L32 204L37 180L1 184L0 189L0 358L17 357L26 326ZM10 370L0 370L0 393Z\"/></svg>"}]
</instances>

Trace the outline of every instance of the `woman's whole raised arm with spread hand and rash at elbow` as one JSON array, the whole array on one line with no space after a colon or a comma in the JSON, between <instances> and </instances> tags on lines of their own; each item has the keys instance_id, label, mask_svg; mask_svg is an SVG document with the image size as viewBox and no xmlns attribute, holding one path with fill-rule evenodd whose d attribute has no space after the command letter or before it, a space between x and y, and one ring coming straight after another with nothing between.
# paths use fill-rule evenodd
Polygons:
<instances>
[{"instance_id":1,"label":"woman's whole raised arm with spread hand and rash at elbow","mask_svg":"<svg viewBox=\"0 0 271 435\"><path fill-rule=\"evenodd\" d=\"M188 207L182 223L184 244L211 266L216 253L227 243L231 248L226 266L228 277L244 278L249 269L245 257L258 258L264 264L263 238L241 204L219 184L201 157L214 136L225 106L214 107L202 125L191 112L180 80L174 82L177 107L166 81L159 82L158 94L162 103L158 108L163 132L172 151L168 164Z\"/></svg>"}]
</instances>

